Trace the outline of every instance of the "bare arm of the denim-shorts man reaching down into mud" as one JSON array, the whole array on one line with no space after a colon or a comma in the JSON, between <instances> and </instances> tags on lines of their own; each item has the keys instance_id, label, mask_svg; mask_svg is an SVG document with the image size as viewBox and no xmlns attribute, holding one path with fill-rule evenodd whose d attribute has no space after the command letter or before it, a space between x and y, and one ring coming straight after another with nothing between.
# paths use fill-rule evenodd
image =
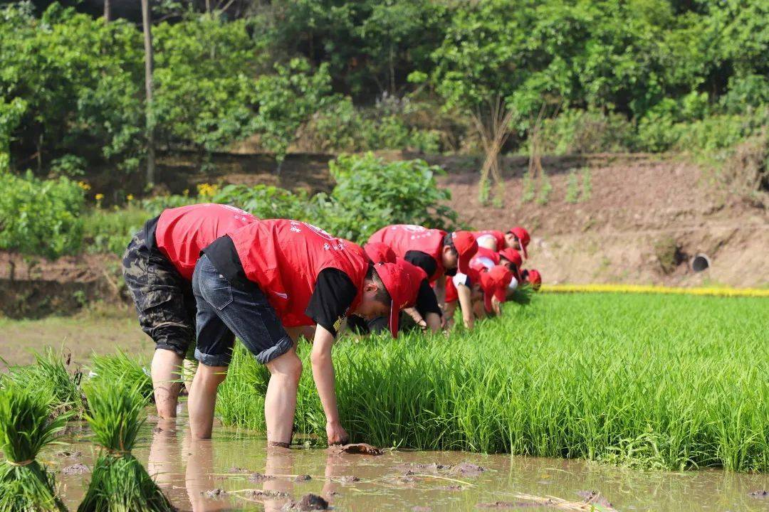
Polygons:
<instances>
[{"instance_id":1,"label":"bare arm of the denim-shorts man reaching down into mud","mask_svg":"<svg viewBox=\"0 0 769 512\"><path fill-rule=\"evenodd\" d=\"M315 328L315 341L312 344L310 361L312 363L312 378L318 388L323 411L326 415L326 435L328 444L345 444L349 436L339 422L337 408L334 362L331 361L331 346L334 345L334 335L322 325Z\"/></svg>"}]
</instances>

